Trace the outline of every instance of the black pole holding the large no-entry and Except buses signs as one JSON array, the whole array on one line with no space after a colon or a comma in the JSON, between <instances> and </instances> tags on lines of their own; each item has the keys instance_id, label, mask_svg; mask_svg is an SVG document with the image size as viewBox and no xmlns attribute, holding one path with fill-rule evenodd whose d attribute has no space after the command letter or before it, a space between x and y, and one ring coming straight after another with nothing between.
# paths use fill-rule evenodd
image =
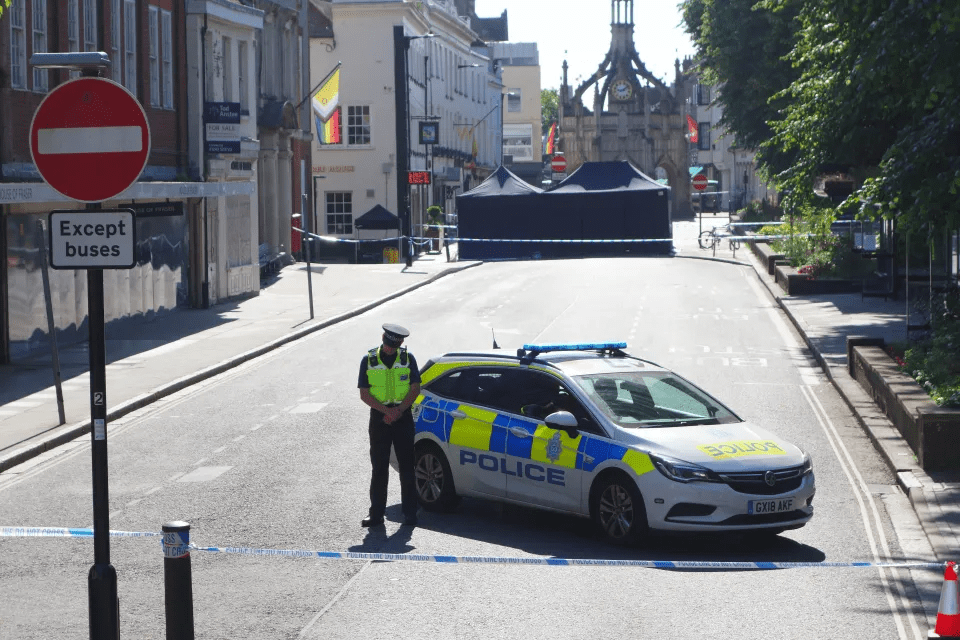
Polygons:
<instances>
[{"instance_id":1,"label":"black pole holding the large no-entry and Except buses signs","mask_svg":"<svg viewBox=\"0 0 960 640\"><path fill-rule=\"evenodd\" d=\"M100 210L87 204L87 211ZM120 637L117 571L110 564L110 492L107 483L107 358L103 321L103 269L87 269L90 331L90 430L93 457L93 566L87 577L90 639Z\"/></svg>"}]
</instances>

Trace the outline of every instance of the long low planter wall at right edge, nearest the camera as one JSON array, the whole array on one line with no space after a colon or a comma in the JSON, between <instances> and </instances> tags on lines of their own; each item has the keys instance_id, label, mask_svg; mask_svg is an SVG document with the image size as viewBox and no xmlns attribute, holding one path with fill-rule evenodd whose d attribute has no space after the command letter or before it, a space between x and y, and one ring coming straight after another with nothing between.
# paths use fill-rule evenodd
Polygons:
<instances>
[{"instance_id":1,"label":"long low planter wall at right edge, nearest the camera","mask_svg":"<svg viewBox=\"0 0 960 640\"><path fill-rule=\"evenodd\" d=\"M903 435L925 471L960 470L960 409L939 407L877 346L850 349L853 377Z\"/></svg>"}]
</instances>

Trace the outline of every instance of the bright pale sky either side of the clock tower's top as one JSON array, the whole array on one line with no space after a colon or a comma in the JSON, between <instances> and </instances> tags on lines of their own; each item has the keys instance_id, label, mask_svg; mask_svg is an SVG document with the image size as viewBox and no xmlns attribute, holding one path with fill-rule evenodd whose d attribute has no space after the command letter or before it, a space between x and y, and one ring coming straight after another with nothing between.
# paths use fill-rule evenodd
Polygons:
<instances>
[{"instance_id":1,"label":"bright pale sky either side of the clock tower's top","mask_svg":"<svg viewBox=\"0 0 960 640\"><path fill-rule=\"evenodd\" d=\"M586 10L586 7L592 7ZM693 43L679 26L676 0L636 0L634 44L640 60L655 76L673 81L673 61L693 55ZM564 59L570 83L597 70L610 48L609 0L476 0L477 15L499 16L507 10L511 42L536 42L540 82L559 88Z\"/></svg>"}]
</instances>

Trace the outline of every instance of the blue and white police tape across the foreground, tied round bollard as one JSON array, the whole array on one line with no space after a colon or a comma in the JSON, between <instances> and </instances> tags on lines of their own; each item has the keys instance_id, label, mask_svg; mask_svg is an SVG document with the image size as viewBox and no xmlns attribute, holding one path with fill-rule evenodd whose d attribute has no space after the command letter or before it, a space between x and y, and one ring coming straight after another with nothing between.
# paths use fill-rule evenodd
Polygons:
<instances>
[{"instance_id":1,"label":"blue and white police tape across the foreground, tied round bollard","mask_svg":"<svg viewBox=\"0 0 960 640\"><path fill-rule=\"evenodd\" d=\"M111 531L111 537L148 538L172 535L171 546L178 548L182 539L177 533L143 533ZM80 537L92 538L92 529L60 527L0 527L0 537ZM163 541L166 552L167 540ZM318 558L321 560L376 560L380 562L434 562L438 564L523 564L550 567L640 567L647 569L842 569L842 568L915 568L939 569L946 562L707 562L694 560L599 560L590 558L508 558L503 556L441 556L415 553L360 553L352 551L304 551L297 549L251 549L246 547L199 547L182 545L195 551L234 553L247 556L282 556ZM170 557L170 556L167 556Z\"/></svg>"}]
</instances>

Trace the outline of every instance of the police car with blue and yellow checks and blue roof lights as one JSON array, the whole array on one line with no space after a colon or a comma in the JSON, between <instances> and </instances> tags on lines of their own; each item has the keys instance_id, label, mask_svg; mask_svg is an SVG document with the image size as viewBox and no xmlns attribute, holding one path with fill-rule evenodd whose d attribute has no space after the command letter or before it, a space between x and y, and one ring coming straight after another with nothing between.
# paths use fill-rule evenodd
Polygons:
<instances>
[{"instance_id":1,"label":"police car with blue and yellow checks and blue roof lights","mask_svg":"<svg viewBox=\"0 0 960 640\"><path fill-rule=\"evenodd\" d=\"M651 529L775 535L813 517L810 456L626 346L428 361L413 406L421 506L548 509L592 518L617 544Z\"/></svg>"}]
</instances>

